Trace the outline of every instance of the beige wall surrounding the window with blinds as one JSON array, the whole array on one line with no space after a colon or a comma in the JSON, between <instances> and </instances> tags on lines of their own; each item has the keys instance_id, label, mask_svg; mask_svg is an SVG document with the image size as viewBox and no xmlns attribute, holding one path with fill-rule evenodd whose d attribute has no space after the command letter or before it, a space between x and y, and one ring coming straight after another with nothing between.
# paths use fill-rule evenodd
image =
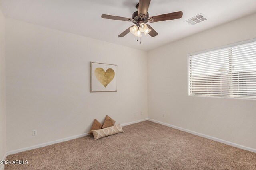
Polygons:
<instances>
[{"instance_id":1,"label":"beige wall surrounding the window with blinds","mask_svg":"<svg viewBox=\"0 0 256 170\"><path fill-rule=\"evenodd\" d=\"M187 90L188 53L252 38L256 14L149 51L148 117L256 149L256 100L188 97Z\"/></svg>"}]
</instances>

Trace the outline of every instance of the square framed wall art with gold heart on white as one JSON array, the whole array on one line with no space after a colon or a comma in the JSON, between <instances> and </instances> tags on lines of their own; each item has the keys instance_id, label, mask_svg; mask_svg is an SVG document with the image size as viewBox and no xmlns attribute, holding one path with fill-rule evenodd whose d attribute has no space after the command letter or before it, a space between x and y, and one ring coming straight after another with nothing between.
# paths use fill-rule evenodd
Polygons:
<instances>
[{"instance_id":1,"label":"square framed wall art with gold heart on white","mask_svg":"<svg viewBox=\"0 0 256 170\"><path fill-rule=\"evenodd\" d=\"M90 92L117 92L117 65L90 62Z\"/></svg>"}]
</instances>

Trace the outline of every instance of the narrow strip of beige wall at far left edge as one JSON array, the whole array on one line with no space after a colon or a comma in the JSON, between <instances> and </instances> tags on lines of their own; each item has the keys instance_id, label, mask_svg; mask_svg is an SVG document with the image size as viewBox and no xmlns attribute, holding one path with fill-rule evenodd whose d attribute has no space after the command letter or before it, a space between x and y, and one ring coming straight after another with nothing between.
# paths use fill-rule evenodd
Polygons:
<instances>
[{"instance_id":1,"label":"narrow strip of beige wall at far left edge","mask_svg":"<svg viewBox=\"0 0 256 170\"><path fill-rule=\"evenodd\" d=\"M6 154L5 18L0 10L0 160ZM0 169L3 165L0 164Z\"/></svg>"}]
</instances>

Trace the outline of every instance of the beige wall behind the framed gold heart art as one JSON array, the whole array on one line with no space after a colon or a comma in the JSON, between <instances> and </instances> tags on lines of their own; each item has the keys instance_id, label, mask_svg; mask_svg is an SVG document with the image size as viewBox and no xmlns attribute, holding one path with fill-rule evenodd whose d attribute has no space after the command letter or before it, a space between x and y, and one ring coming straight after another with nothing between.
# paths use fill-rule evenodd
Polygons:
<instances>
[{"instance_id":1,"label":"beige wall behind the framed gold heart art","mask_svg":"<svg viewBox=\"0 0 256 170\"><path fill-rule=\"evenodd\" d=\"M147 118L146 55L6 18L7 150L86 133L106 115ZM90 61L118 65L118 92L90 93Z\"/></svg>"}]
</instances>

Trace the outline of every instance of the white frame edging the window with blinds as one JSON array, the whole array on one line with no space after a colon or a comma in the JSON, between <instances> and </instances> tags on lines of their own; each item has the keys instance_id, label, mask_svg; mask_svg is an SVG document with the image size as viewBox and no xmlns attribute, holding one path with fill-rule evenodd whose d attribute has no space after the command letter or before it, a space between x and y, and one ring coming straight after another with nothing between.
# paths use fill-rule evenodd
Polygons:
<instances>
[{"instance_id":1,"label":"white frame edging the window with blinds","mask_svg":"<svg viewBox=\"0 0 256 170\"><path fill-rule=\"evenodd\" d=\"M232 43L232 44L228 44L228 45L222 45L222 46L219 46L219 47L215 47L215 48L212 48L212 49L206 49L206 50L202 50L202 51L198 51L198 52L194 52L194 53L188 53L187 54L187 95L189 97L206 97L206 98L228 98L228 99L245 99L245 100L256 100L256 97L255 98L246 98L246 97L233 97L233 96L200 96L200 95L191 95L189 94L189 58L191 55L198 55L200 53L207 53L207 52L210 52L210 51L215 51L215 50L219 50L219 49L224 49L224 48L230 48L230 47L234 47L234 46L237 46L237 45L242 45L242 44L246 44L246 43L252 43L252 42L256 42L256 38L253 38L253 39L248 39L248 40L245 40L245 41L239 41L237 43Z\"/></svg>"}]
</instances>

